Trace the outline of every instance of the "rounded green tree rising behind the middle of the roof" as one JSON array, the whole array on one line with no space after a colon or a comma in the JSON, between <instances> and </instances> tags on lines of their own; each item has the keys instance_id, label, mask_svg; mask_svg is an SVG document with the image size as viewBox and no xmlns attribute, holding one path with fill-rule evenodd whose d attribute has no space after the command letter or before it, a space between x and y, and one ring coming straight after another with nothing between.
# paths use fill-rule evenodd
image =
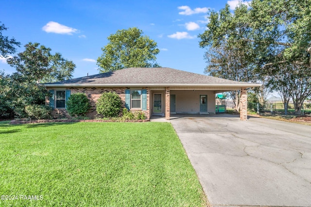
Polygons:
<instances>
[{"instance_id":1,"label":"rounded green tree rising behind the middle of the roof","mask_svg":"<svg viewBox=\"0 0 311 207\"><path fill-rule=\"evenodd\" d=\"M128 67L159 67L155 62L160 52L154 40L142 36L136 27L118 30L107 39L109 43L102 48L103 54L97 59L101 73Z\"/></svg>"}]
</instances>

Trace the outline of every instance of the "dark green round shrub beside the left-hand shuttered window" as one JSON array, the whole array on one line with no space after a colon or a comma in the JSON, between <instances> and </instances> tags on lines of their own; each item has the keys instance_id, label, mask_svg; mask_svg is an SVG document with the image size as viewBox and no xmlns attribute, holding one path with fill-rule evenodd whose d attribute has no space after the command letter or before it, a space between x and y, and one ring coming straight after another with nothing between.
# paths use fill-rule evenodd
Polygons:
<instances>
[{"instance_id":1,"label":"dark green round shrub beside the left-hand shuttered window","mask_svg":"<svg viewBox=\"0 0 311 207\"><path fill-rule=\"evenodd\" d=\"M89 100L86 94L76 93L69 96L66 102L67 108L70 116L85 116L87 111L91 108Z\"/></svg>"}]
</instances>

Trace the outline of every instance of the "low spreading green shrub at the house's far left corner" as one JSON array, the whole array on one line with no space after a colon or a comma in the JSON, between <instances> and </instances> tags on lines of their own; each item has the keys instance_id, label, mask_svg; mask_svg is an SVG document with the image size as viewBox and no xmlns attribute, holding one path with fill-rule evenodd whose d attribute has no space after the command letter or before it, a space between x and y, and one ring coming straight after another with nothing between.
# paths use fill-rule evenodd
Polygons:
<instances>
[{"instance_id":1,"label":"low spreading green shrub at the house's far left corner","mask_svg":"<svg viewBox=\"0 0 311 207\"><path fill-rule=\"evenodd\" d=\"M52 108L46 105L29 105L25 107L29 119L49 119Z\"/></svg>"}]
</instances>

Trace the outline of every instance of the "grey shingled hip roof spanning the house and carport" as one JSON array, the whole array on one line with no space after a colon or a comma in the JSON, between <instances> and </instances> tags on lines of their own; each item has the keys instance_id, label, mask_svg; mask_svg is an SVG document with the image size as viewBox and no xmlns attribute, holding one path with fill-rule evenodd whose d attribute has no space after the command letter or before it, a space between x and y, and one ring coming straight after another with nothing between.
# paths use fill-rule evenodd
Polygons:
<instances>
[{"instance_id":1,"label":"grey shingled hip roof spanning the house and carport","mask_svg":"<svg viewBox=\"0 0 311 207\"><path fill-rule=\"evenodd\" d=\"M261 84L226 80L168 67L125 68L92 76L44 83L47 87L64 86L235 86L256 87Z\"/></svg>"}]
</instances>

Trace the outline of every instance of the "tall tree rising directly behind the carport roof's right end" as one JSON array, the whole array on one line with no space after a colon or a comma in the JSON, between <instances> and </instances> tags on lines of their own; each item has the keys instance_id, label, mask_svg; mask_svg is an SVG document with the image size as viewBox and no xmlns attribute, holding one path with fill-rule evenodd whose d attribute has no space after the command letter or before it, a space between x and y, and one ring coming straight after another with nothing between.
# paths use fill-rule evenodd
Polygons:
<instances>
[{"instance_id":1,"label":"tall tree rising directly behind the carport roof's right end","mask_svg":"<svg viewBox=\"0 0 311 207\"><path fill-rule=\"evenodd\" d=\"M252 42L244 41L250 28L245 24L247 7L240 5L234 14L229 5L220 12L211 11L207 30L200 34L200 47L207 48L205 73L211 76L236 81L254 81L256 54ZM240 111L240 91L229 92L235 103L235 110Z\"/></svg>"}]
</instances>

